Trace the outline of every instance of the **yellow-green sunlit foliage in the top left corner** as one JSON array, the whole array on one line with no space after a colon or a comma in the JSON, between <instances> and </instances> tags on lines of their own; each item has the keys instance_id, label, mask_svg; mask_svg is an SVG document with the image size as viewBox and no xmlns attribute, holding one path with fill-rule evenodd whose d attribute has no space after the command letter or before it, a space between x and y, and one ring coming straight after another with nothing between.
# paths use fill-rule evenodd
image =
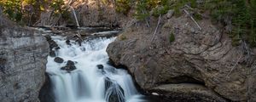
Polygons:
<instances>
[{"instance_id":1,"label":"yellow-green sunlit foliage in the top left corner","mask_svg":"<svg viewBox=\"0 0 256 102\"><path fill-rule=\"evenodd\" d=\"M61 14L64 19L69 17L63 0L1 0L0 6L10 20L20 24L37 21L40 14L49 8L54 9L55 15Z\"/></svg>"}]
</instances>

